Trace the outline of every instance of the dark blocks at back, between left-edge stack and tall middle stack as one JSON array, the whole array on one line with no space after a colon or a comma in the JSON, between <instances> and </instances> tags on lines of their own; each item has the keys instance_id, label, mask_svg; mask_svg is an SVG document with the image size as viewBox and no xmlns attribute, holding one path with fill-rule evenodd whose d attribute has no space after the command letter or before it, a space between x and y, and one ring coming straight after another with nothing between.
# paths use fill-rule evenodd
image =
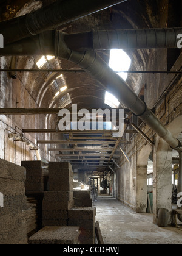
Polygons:
<instances>
[{"instance_id":1,"label":"dark blocks at back, between left-edge stack and tall middle stack","mask_svg":"<svg viewBox=\"0 0 182 256\"><path fill-rule=\"evenodd\" d=\"M47 190L48 171L42 166L41 161L22 161L26 168L25 191L26 194Z\"/></svg>"}]
</instances>

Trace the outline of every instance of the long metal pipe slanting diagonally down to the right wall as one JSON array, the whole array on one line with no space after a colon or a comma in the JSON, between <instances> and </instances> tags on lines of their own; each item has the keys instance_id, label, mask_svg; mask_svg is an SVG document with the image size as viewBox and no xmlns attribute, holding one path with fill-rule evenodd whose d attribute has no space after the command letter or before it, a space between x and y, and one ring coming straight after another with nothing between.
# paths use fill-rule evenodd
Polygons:
<instances>
[{"instance_id":1,"label":"long metal pipe slanting diagonally down to the right wall","mask_svg":"<svg viewBox=\"0 0 182 256\"><path fill-rule=\"evenodd\" d=\"M61 37L64 37L64 35L62 34ZM173 137L172 133L160 122L157 116L147 108L146 103L95 51L75 52L67 48L67 45L64 45L61 40L58 44L58 56L76 63L80 68L90 73L106 87L107 91L115 95L121 104L148 124L171 148L182 151L180 141Z\"/></svg>"}]
</instances>

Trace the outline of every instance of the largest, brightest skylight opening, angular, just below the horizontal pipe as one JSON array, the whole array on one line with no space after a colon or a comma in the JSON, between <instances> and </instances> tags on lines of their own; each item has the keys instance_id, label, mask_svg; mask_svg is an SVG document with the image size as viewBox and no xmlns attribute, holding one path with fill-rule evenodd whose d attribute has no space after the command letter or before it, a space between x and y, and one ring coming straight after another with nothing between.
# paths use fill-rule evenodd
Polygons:
<instances>
[{"instance_id":1,"label":"largest, brightest skylight opening, angular, just below the horizontal pipe","mask_svg":"<svg viewBox=\"0 0 182 256\"><path fill-rule=\"evenodd\" d=\"M110 51L109 66L113 69L119 76L126 81L128 74L122 71L128 71L130 68L132 60L130 57L120 49L112 49Z\"/></svg>"}]
</instances>

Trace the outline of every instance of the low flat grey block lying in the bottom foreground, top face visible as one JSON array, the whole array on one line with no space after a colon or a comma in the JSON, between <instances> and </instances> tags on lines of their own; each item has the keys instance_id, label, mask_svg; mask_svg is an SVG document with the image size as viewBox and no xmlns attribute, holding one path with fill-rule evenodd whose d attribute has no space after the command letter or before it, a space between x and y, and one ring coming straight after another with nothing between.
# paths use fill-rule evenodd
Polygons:
<instances>
[{"instance_id":1,"label":"low flat grey block lying in the bottom foreground, top face visible","mask_svg":"<svg viewBox=\"0 0 182 256\"><path fill-rule=\"evenodd\" d=\"M44 227L29 238L29 244L77 244L79 227Z\"/></svg>"}]
</instances>

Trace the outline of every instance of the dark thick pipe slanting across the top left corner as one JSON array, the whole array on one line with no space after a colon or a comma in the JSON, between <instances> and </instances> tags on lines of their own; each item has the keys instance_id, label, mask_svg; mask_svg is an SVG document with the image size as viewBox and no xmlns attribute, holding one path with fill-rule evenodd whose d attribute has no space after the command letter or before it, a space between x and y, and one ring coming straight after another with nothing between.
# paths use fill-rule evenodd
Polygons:
<instances>
[{"instance_id":1,"label":"dark thick pipe slanting across the top left corner","mask_svg":"<svg viewBox=\"0 0 182 256\"><path fill-rule=\"evenodd\" d=\"M124 1L126 0L57 0L35 12L2 21L0 31L4 36L4 45L37 35L45 30L55 29L62 24L78 20Z\"/></svg>"}]
</instances>

